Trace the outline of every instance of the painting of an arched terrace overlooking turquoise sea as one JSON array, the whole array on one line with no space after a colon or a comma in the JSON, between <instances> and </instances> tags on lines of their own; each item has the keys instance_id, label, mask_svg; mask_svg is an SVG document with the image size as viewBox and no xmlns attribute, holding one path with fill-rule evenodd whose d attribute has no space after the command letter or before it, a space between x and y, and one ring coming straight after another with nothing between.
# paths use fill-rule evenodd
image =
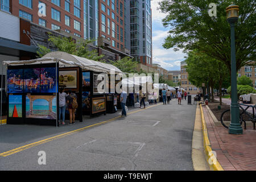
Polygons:
<instances>
[{"instance_id":1,"label":"painting of an arched terrace overlooking turquoise sea","mask_svg":"<svg viewBox=\"0 0 256 182\"><path fill-rule=\"evenodd\" d=\"M56 119L56 96L26 96L26 118Z\"/></svg>"}]
</instances>

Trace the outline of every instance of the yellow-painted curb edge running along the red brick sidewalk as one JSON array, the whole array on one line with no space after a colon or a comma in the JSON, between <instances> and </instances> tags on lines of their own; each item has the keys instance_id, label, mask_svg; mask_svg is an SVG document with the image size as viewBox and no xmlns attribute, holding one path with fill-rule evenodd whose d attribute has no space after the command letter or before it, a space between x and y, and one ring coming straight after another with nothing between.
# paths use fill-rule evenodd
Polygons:
<instances>
[{"instance_id":1,"label":"yellow-painted curb edge running along the red brick sidewalk","mask_svg":"<svg viewBox=\"0 0 256 182\"><path fill-rule=\"evenodd\" d=\"M204 151L205 151L205 157L207 159L207 162L209 164L209 167L213 171L224 171L224 169L221 167L220 163L218 163L218 160L216 156L213 154L212 147L210 147L210 140L208 137L207 132L207 125L205 123L204 119L204 113L203 113L203 107L200 105L201 109L201 118L202 118L202 125L203 125L203 139L204 139Z\"/></svg>"}]
</instances>

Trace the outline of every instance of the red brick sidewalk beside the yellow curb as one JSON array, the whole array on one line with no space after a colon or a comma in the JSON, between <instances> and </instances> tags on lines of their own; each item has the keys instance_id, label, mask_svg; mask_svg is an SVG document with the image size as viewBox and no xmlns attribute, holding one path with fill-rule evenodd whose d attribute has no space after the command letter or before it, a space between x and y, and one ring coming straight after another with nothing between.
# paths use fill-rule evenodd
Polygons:
<instances>
[{"instance_id":1,"label":"red brick sidewalk beside the yellow curb","mask_svg":"<svg viewBox=\"0 0 256 182\"><path fill-rule=\"evenodd\" d=\"M224 126L214 126L205 106L203 111L210 144L222 168L228 171L256 171L256 130L249 126L242 135L229 134Z\"/></svg>"}]
</instances>

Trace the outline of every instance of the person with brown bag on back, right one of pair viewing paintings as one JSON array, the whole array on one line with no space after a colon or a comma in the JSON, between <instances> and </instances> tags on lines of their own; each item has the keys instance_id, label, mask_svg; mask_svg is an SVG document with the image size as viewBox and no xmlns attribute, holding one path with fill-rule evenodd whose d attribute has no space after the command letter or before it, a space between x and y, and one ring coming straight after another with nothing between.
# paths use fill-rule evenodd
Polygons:
<instances>
[{"instance_id":1,"label":"person with brown bag on back, right one of pair viewing paintings","mask_svg":"<svg viewBox=\"0 0 256 182\"><path fill-rule=\"evenodd\" d=\"M68 103L68 111L69 111L69 125L75 124L75 113L78 107L77 105L77 96L75 92L72 93L71 90L68 90L67 96L67 103Z\"/></svg>"}]
</instances>

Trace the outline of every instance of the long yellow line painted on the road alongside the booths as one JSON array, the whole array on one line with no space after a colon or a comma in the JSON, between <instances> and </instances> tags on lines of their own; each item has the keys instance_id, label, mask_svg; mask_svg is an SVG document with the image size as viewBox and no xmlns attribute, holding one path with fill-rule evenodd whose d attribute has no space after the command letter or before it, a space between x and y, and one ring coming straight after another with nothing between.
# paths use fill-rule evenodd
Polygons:
<instances>
[{"instance_id":1,"label":"long yellow line painted on the road alongside the booths","mask_svg":"<svg viewBox=\"0 0 256 182\"><path fill-rule=\"evenodd\" d=\"M151 107L158 106L158 105L160 105L160 104L148 106L148 107L146 107L145 109L149 109L149 108L151 108ZM131 111L130 113L127 113L127 115L134 114L134 113L138 113L139 111L143 111L143 110L145 110L145 109ZM118 118L121 118L121 115L118 115L117 117L114 117L114 118L109 119L109 120L107 120L107 121L103 121L103 122L100 122L100 123L96 123L96 124L94 124L94 125L82 127L81 129L69 131L69 132L67 132L67 133L63 133L63 134L60 134L60 135L56 135L55 137L43 139L43 140L40 140L40 141L38 141L38 142L26 144L25 146L22 146L22 147L14 148L13 150L9 150L9 151L6 151L6 152L2 152L2 153L0 153L0 157L6 157L6 156L9 156L9 155L12 155L12 154L16 154L16 153L18 153L18 152L20 152L20 151L23 151L23 150L26 150L26 149L28 149L28 148L32 148L32 147L38 146L38 145L43 144L43 143L51 142L52 140L59 139L59 138L63 138L63 137L66 137L67 135L71 135L71 134L73 134L73 133L77 133L77 132L80 132L80 131L84 131L85 129L88 129L89 127L102 125L102 124L104 124L104 123L108 123L108 122L114 121L115 119L118 119Z\"/></svg>"}]
</instances>

